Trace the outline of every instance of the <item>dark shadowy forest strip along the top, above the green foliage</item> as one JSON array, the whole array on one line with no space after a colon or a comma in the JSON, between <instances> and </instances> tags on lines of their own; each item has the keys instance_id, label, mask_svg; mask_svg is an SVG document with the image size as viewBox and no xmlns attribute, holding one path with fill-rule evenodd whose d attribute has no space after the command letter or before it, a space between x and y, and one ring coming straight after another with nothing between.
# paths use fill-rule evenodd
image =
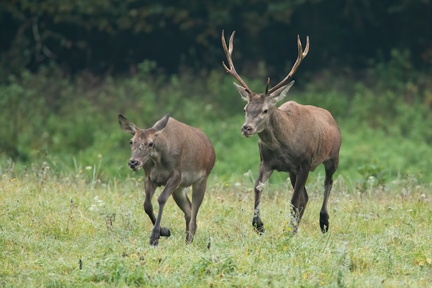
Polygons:
<instances>
[{"instance_id":1,"label":"dark shadowy forest strip along the top, above the green foliage","mask_svg":"<svg viewBox=\"0 0 432 288\"><path fill-rule=\"evenodd\" d=\"M133 74L144 59L166 73L199 72L224 59L222 29L237 30L243 68L265 59L277 75L295 59L297 34L311 38L308 73L359 70L392 50L424 68L432 64L431 15L429 0L1 1L1 75L50 61L68 75Z\"/></svg>"}]
</instances>

